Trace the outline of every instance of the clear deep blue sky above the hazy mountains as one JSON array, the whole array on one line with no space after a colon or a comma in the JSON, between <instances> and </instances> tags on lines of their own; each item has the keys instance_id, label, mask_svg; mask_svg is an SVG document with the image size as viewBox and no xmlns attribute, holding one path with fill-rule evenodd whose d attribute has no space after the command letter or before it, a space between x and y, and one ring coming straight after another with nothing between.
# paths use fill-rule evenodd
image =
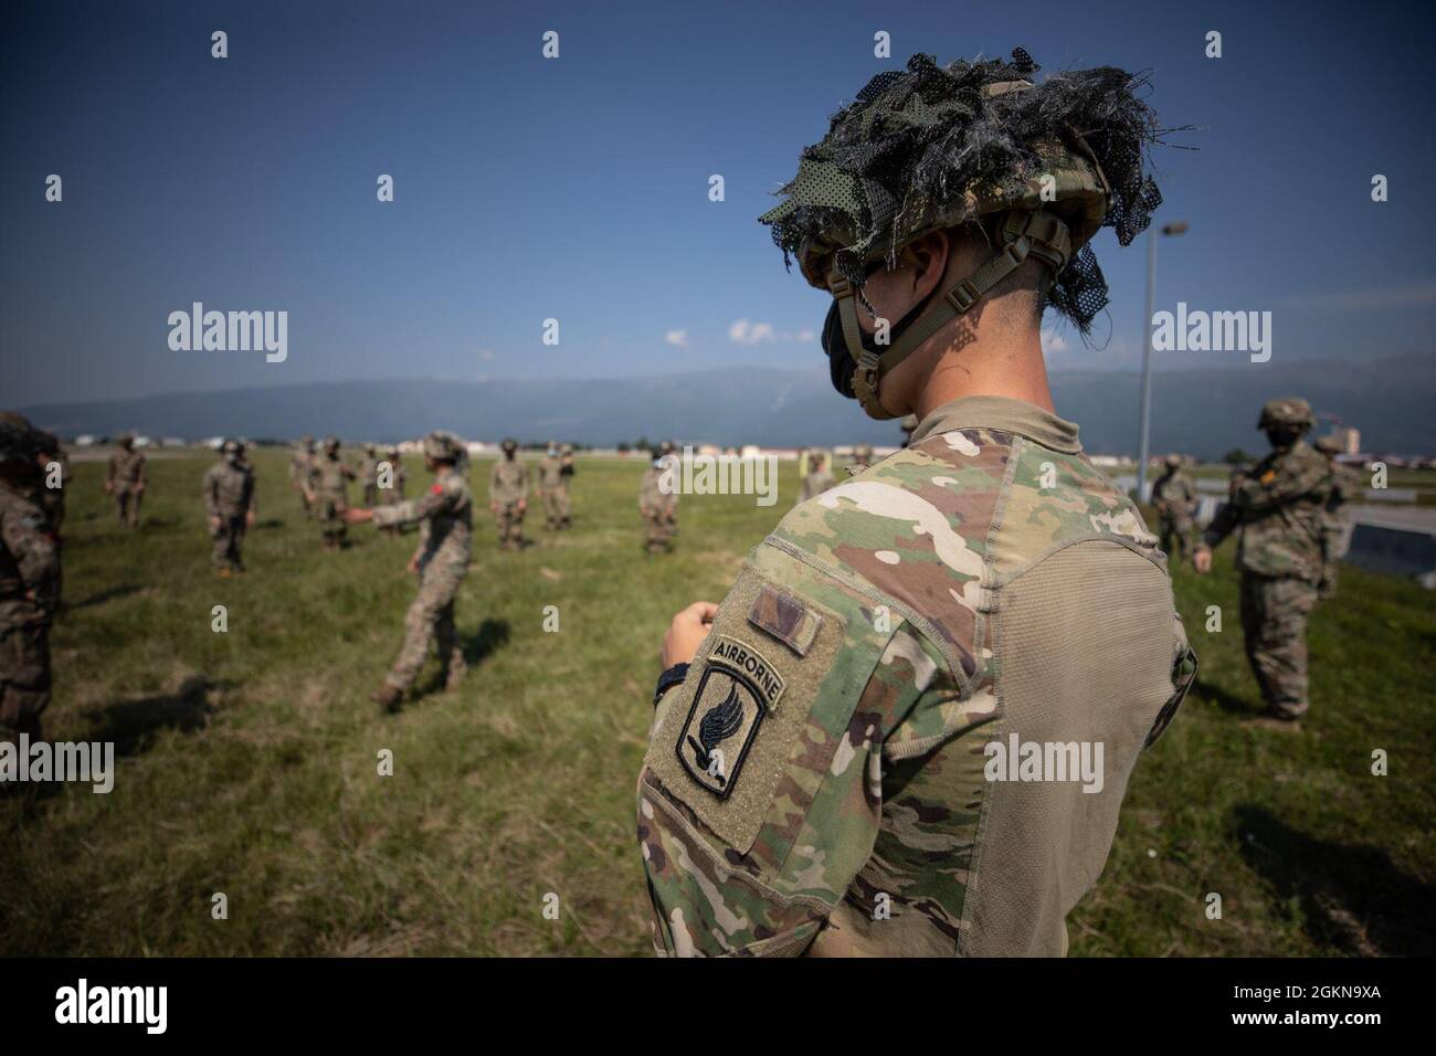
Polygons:
<instances>
[{"instance_id":1,"label":"clear deep blue sky above the hazy mountains","mask_svg":"<svg viewBox=\"0 0 1436 1056\"><path fill-rule=\"evenodd\" d=\"M1265 10L1254 10L1256 7ZM821 368L826 299L755 217L827 115L912 52L1150 70L1157 307L1274 313L1272 362L1427 352L1429 16L1410 4L9 6L0 404L353 378ZM1416 19L1416 20L1413 20ZM210 33L230 57L210 57ZM543 59L541 36L560 34ZM893 59L873 57L873 33ZM1223 57L1203 55L1208 30ZM43 198L63 177L65 200ZM395 178L379 204L375 181ZM708 200L722 174L727 200ZM1390 201L1370 200L1373 174ZM1144 250L1096 250L1132 369ZM289 359L177 353L167 316L289 312ZM561 343L541 343L546 318ZM734 341L734 325L748 341ZM673 332L682 332L678 339ZM675 343L676 342L676 343ZM1160 363L1211 366L1218 359ZM1245 356L1231 356L1234 369Z\"/></svg>"}]
</instances>

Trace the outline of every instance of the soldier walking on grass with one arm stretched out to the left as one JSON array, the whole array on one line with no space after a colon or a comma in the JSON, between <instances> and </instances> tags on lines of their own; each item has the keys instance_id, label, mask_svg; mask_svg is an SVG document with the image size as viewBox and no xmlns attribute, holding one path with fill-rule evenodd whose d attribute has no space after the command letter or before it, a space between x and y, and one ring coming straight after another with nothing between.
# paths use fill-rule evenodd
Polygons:
<instances>
[{"instance_id":1,"label":"soldier walking on grass with one arm stretched out to the left","mask_svg":"<svg viewBox=\"0 0 1436 1056\"><path fill-rule=\"evenodd\" d=\"M454 628L454 598L458 595L472 550L474 501L464 476L464 443L451 432L424 438L424 466L434 486L419 499L373 510L349 510L350 524L372 520L379 527L419 523L419 547L409 559L409 572L419 576L419 592L404 618L404 645L373 700L395 711L438 641L444 665L444 688L458 685L467 670L464 651Z\"/></svg>"}]
</instances>

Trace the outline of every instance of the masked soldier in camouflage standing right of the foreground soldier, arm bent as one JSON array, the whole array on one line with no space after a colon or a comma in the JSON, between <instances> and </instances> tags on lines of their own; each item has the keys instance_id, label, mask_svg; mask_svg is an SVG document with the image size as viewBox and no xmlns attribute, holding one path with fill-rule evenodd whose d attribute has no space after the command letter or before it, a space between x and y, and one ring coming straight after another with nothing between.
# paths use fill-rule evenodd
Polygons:
<instances>
[{"instance_id":1,"label":"masked soldier in camouflage standing right of the foreground soldier, arm bent","mask_svg":"<svg viewBox=\"0 0 1436 1056\"><path fill-rule=\"evenodd\" d=\"M1262 407L1271 454L1251 473L1232 474L1231 493L1196 549L1198 572L1212 568L1212 547L1238 533L1242 635L1262 700L1264 724L1295 728L1307 701L1307 619L1317 603L1331 468L1302 437L1315 424L1305 399Z\"/></svg>"}]
</instances>

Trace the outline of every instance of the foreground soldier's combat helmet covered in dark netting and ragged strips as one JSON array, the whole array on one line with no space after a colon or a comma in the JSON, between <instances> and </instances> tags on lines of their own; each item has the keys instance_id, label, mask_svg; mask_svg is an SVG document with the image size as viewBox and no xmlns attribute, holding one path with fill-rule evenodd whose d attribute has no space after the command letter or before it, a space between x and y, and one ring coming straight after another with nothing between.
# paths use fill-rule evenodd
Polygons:
<instances>
[{"instance_id":1,"label":"foreground soldier's combat helmet covered in dark netting and ragged strips","mask_svg":"<svg viewBox=\"0 0 1436 1056\"><path fill-rule=\"evenodd\" d=\"M1018 47L1011 62L915 55L906 70L879 73L803 151L787 200L760 217L784 260L833 293L830 325L840 320L853 359L840 389L875 418L893 417L877 399L882 375L1028 256L1051 269L1044 303L1087 333L1107 303L1087 243L1110 226L1129 244L1162 201L1143 172L1157 139L1136 96L1144 82L1104 66L1038 83L1038 69ZM873 312L863 286L879 261L892 267L915 238L974 221L994 256L893 323L886 349L864 346L856 305Z\"/></svg>"}]
</instances>

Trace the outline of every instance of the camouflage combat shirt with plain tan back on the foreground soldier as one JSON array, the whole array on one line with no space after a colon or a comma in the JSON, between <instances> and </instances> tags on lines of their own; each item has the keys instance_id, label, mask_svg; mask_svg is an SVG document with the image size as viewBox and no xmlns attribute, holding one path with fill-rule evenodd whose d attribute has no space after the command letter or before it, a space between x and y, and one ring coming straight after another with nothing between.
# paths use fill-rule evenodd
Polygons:
<instances>
[{"instance_id":1,"label":"camouflage combat shirt with plain tan back on the foreground soldier","mask_svg":"<svg viewBox=\"0 0 1436 1056\"><path fill-rule=\"evenodd\" d=\"M1156 539L1076 425L938 408L754 549L659 703L656 948L1064 953L1195 664Z\"/></svg>"}]
</instances>

